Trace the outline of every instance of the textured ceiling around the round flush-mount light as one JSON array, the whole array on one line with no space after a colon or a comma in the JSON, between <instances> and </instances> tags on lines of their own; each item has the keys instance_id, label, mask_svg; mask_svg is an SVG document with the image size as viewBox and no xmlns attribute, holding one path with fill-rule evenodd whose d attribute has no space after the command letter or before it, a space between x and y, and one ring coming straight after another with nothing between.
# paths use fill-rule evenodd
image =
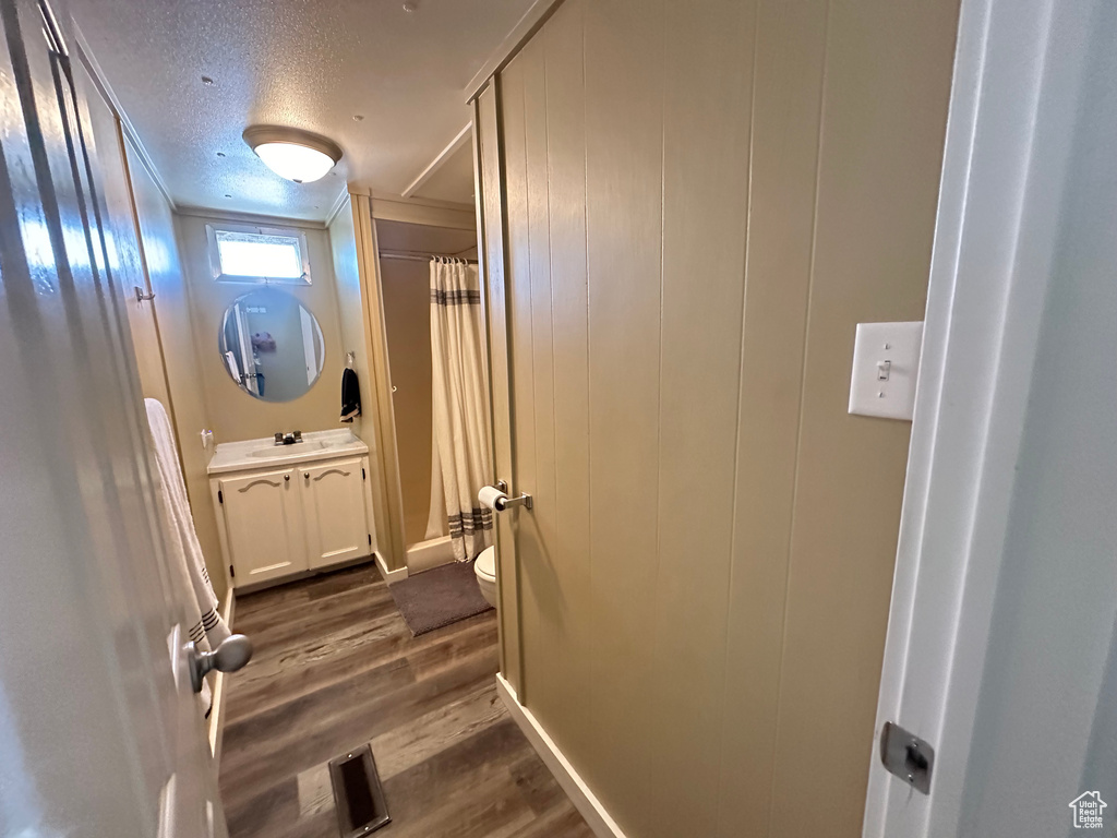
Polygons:
<instances>
[{"instance_id":1,"label":"textured ceiling around the round flush-mount light","mask_svg":"<svg viewBox=\"0 0 1117 838\"><path fill-rule=\"evenodd\" d=\"M345 181L399 194L435 159L469 121L464 88L531 0L416 4L409 13L402 0L71 0L70 9L175 203L321 220ZM240 139L260 123L325 134L345 155L316 183L285 181ZM462 200L472 191L465 172L448 163L420 194Z\"/></svg>"}]
</instances>

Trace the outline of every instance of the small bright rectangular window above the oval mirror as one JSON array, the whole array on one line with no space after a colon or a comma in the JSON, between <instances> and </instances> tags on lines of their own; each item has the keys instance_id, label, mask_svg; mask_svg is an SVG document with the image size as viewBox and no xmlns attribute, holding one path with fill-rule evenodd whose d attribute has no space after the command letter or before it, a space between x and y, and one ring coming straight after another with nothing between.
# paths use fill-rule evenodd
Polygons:
<instances>
[{"instance_id":1,"label":"small bright rectangular window above the oval mirror","mask_svg":"<svg viewBox=\"0 0 1117 838\"><path fill-rule=\"evenodd\" d=\"M219 283L311 284L306 235L300 230L207 225L206 232Z\"/></svg>"}]
</instances>

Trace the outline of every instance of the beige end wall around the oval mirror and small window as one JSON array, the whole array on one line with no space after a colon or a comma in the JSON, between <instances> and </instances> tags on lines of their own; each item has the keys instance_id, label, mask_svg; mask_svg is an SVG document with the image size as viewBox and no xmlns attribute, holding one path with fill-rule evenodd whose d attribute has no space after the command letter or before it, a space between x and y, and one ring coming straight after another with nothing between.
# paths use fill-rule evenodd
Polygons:
<instances>
[{"instance_id":1,"label":"beige end wall around the oval mirror and small window","mask_svg":"<svg viewBox=\"0 0 1117 838\"><path fill-rule=\"evenodd\" d=\"M230 442L270 437L277 430L311 431L340 427L341 374L345 366L345 350L350 347L342 346L333 255L326 230L321 227L303 228L309 249L313 283L308 286L275 286L294 295L317 318L326 347L322 375L305 396L287 402L268 402L240 390L229 377L218 352L218 331L226 308L233 299L254 289L250 284L213 280L206 225L225 220L220 217L175 216L198 347L197 370L206 390L214 438L218 442ZM267 227L303 227L299 222L279 218L259 218L255 222Z\"/></svg>"}]
</instances>

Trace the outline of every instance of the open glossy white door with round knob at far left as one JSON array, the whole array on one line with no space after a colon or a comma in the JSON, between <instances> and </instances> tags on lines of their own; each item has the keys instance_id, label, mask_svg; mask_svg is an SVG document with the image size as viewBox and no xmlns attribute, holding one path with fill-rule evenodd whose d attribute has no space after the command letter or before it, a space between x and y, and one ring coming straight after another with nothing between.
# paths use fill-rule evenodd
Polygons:
<instances>
[{"instance_id":1,"label":"open glossy white door with round knob at far left","mask_svg":"<svg viewBox=\"0 0 1117 838\"><path fill-rule=\"evenodd\" d=\"M85 93L35 0L0 30L0 832L222 838Z\"/></svg>"}]
</instances>

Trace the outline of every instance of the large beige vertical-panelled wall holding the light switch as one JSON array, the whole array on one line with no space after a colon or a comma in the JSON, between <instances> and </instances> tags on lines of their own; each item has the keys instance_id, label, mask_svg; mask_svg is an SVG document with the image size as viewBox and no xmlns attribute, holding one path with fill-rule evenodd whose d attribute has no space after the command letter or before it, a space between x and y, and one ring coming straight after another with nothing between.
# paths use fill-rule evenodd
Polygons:
<instances>
[{"instance_id":1,"label":"large beige vertical-panelled wall holding the light switch","mask_svg":"<svg viewBox=\"0 0 1117 838\"><path fill-rule=\"evenodd\" d=\"M506 666L632 838L860 835L909 426L849 364L923 316L956 13L566 0L498 77Z\"/></svg>"}]
</instances>

